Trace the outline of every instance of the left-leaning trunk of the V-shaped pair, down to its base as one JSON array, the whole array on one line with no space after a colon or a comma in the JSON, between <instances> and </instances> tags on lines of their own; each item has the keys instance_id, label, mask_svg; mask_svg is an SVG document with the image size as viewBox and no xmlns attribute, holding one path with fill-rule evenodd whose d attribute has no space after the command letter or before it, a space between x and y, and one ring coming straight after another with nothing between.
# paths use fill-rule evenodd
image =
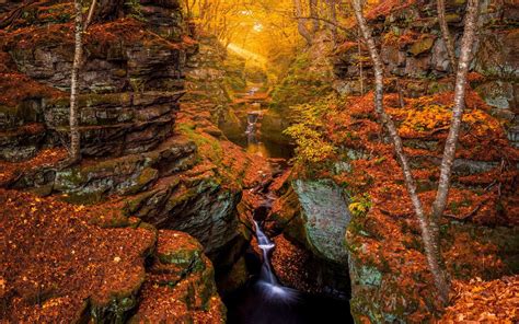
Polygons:
<instances>
[{"instance_id":1,"label":"left-leaning trunk of the V-shaped pair, down to its base","mask_svg":"<svg viewBox=\"0 0 519 324\"><path fill-rule=\"evenodd\" d=\"M440 262L438 259L439 246L438 242L435 242L434 234L430 231L429 222L427 221L427 217L424 212L424 208L422 206L422 201L418 197L416 190L416 182L411 171L411 165L407 161L407 157L404 152L404 147L402 144L402 139L396 131L396 126L394 125L391 117L385 113L383 107L383 65L382 60L380 59L380 55L378 53L377 46L374 45L374 40L371 35L371 30L368 27L366 19L362 15L362 8L359 3L359 0L351 0L355 16L359 24L360 31L362 36L368 45L369 54L371 56L371 60L373 61L374 67L374 108L381 123L389 131L391 140L393 141L394 149L396 152L396 157L402 166L402 171L404 173L404 180L407 187L407 192L411 196L411 200L413 202L413 207L415 209L416 217L418 219L418 224L422 231L422 240L424 242L425 254L427 258L427 265L429 267L430 273L432 274L436 288L438 290L439 297L443 303L447 303L448 296L449 296L449 285L446 279L446 274L440 267Z\"/></svg>"}]
</instances>

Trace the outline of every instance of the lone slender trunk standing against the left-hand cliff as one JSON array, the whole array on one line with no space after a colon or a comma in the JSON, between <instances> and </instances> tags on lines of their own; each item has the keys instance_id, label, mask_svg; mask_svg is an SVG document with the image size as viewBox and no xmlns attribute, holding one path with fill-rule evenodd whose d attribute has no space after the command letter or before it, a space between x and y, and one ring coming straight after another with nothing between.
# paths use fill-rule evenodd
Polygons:
<instances>
[{"instance_id":1,"label":"lone slender trunk standing against the left-hand cliff","mask_svg":"<svg viewBox=\"0 0 519 324\"><path fill-rule=\"evenodd\" d=\"M77 162L81 159L81 135L78 126L78 74L83 56L82 33L83 14L81 12L81 0L74 0L76 11L76 35L74 35L74 56L72 63L72 77L70 82L70 159Z\"/></svg>"}]
</instances>

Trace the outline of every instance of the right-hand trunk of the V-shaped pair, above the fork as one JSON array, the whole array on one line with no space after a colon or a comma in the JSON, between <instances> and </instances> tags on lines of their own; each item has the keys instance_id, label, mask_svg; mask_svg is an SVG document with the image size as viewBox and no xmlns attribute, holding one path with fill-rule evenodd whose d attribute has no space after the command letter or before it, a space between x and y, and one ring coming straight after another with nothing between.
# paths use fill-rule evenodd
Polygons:
<instances>
[{"instance_id":1,"label":"right-hand trunk of the V-shaped pair, above the fork","mask_svg":"<svg viewBox=\"0 0 519 324\"><path fill-rule=\"evenodd\" d=\"M438 192L432 204L432 221L438 222L438 219L445 211L447 198L449 195L450 178L452 174L452 164L455 158L455 147L460 137L461 119L463 117L463 109L465 106L465 90L466 90L466 73L469 72L472 60L472 46L476 38L477 18L480 11L478 0L469 0L465 15L465 27L463 38L461 39L461 54L458 65L458 72L455 76L454 90L454 107L452 109L452 121L447 137L446 147L443 150L443 159L441 161L440 180L438 183ZM436 229L437 231L437 229Z\"/></svg>"}]
</instances>

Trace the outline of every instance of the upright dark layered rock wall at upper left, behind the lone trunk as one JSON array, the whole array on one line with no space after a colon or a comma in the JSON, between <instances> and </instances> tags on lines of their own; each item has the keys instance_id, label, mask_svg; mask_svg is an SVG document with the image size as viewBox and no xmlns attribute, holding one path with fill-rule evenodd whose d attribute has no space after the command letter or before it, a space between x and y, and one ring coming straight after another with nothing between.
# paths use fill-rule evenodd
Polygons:
<instances>
[{"instance_id":1,"label":"upright dark layered rock wall at upper left, behind the lone trunk","mask_svg":"<svg viewBox=\"0 0 519 324\"><path fill-rule=\"evenodd\" d=\"M0 158L8 161L68 139L72 4L31 4L22 11L22 19L2 31L0 42L9 62L0 71L5 88L0 131L10 139L0 143ZM142 1L139 13L143 22L100 21L85 33L79 73L83 157L146 152L172 135L184 86L182 70L195 46L184 42L177 1ZM41 130L27 131L35 123Z\"/></svg>"}]
</instances>

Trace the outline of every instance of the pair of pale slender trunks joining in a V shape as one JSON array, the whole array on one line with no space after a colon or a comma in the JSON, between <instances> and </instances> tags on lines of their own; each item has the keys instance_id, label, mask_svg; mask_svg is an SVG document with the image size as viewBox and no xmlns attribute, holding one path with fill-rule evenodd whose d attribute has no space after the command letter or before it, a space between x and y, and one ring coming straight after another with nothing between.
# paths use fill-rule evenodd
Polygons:
<instances>
[{"instance_id":1,"label":"pair of pale slender trunks joining in a V shape","mask_svg":"<svg viewBox=\"0 0 519 324\"><path fill-rule=\"evenodd\" d=\"M464 95L466 88L466 74L469 65L471 61L471 50L475 39L475 28L477 25L477 13L478 13L478 0L469 0L465 26L463 33L463 39L461 45L460 62L458 66L457 79L455 79L455 92L454 92L454 108L452 115L451 127L449 136L447 138L443 158L440 169L440 181L438 184L438 190L436 200L432 205L432 215L428 218L422 200L418 197L416 189L416 181L413 176L408 159L404 152L402 139L399 136L397 129L391 117L385 113L383 107L383 63L377 49L374 39L372 37L371 30L362 14L362 5L360 0L351 0L355 16L360 27L362 37L365 38L368 50L373 62L374 69L374 108L379 115L380 121L388 129L390 138L393 142L396 157L402 166L404 174L405 185L411 196L411 200L415 210L416 218L419 223L422 231L422 239L424 242L425 254L427 257L427 264L431 271L435 285L438 290L439 298L446 304L449 297L449 280L447 273L441 268L441 256L440 256L440 241L439 241L439 218L445 211L447 204L450 176L452 173L452 164L455 155L455 146L459 138L461 118L464 108Z\"/></svg>"}]
</instances>

